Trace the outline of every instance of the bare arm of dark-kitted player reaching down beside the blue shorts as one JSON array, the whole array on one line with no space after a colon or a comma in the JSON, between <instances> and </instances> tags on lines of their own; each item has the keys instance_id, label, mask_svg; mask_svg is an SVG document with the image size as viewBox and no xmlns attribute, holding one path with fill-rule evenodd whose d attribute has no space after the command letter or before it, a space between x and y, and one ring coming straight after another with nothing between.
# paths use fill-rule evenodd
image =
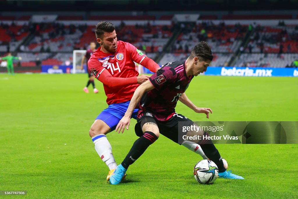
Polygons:
<instances>
[{"instance_id":1,"label":"bare arm of dark-kitted player reaching down beside the blue shorts","mask_svg":"<svg viewBox=\"0 0 298 199\"><path fill-rule=\"evenodd\" d=\"M134 95L131 98L131 101L129 103L129 106L123 116L123 118L119 121L117 127L116 127L116 132L119 129L119 132L122 130L122 133L124 131L124 128L126 126L126 129L128 130L129 124L130 124L130 118L131 114L134 112L134 109L136 105L139 103L141 100L142 96L144 95L145 92L154 89L153 85L151 84L150 80L147 80L145 83L141 84L136 91L134 92Z\"/></svg>"}]
</instances>

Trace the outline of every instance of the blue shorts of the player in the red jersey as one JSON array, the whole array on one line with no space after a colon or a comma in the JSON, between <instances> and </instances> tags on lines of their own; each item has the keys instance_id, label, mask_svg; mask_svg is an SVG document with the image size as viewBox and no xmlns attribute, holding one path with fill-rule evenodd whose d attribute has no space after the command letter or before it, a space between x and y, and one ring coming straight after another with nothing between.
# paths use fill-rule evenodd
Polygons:
<instances>
[{"instance_id":1,"label":"blue shorts of the player in the red jersey","mask_svg":"<svg viewBox=\"0 0 298 199\"><path fill-rule=\"evenodd\" d=\"M108 108L104 109L95 120L102 120L105 124L111 128L111 132L114 131L117 127L117 124L124 116L130 101L111 104ZM139 109L134 109L134 112L131 115L131 118L137 119Z\"/></svg>"}]
</instances>

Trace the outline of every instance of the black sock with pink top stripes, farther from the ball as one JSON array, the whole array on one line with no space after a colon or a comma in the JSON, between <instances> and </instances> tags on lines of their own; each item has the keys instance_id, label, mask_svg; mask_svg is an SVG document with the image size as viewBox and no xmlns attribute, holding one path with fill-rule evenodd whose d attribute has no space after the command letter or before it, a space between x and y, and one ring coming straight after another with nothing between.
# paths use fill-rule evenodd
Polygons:
<instances>
[{"instance_id":1,"label":"black sock with pink top stripes, farther from the ball","mask_svg":"<svg viewBox=\"0 0 298 199\"><path fill-rule=\"evenodd\" d=\"M134 142L132 145L131 150L128 152L126 157L124 158L123 162L121 163L122 166L127 169L129 165L134 163L150 146L157 140L157 136L150 131L145 131L144 135L142 135L139 139Z\"/></svg>"}]
</instances>

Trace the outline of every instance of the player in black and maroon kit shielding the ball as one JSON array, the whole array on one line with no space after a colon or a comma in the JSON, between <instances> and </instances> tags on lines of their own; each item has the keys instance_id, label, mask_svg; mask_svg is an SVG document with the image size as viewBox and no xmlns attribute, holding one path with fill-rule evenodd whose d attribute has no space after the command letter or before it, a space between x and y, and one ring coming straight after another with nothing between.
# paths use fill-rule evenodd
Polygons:
<instances>
[{"instance_id":1,"label":"player in black and maroon kit shielding the ball","mask_svg":"<svg viewBox=\"0 0 298 199\"><path fill-rule=\"evenodd\" d=\"M119 130L120 132L122 130L123 133L125 126L128 129L131 114L137 103L139 103L140 110L135 130L136 135L140 138L134 142L125 159L110 176L111 184L121 182L128 166L133 164L148 146L159 138L159 134L178 143L178 123L196 125L189 118L175 112L178 100L197 113L205 113L209 118L209 112L212 113L212 110L196 107L184 92L194 76L207 70L212 59L213 55L209 45L207 42L201 41L193 48L187 60L167 63L136 89L125 115L116 127L116 131ZM209 134L204 131L189 131L188 133L209 137ZM201 146L206 156L218 166L218 176L220 178L244 179L241 176L232 174L231 171L226 171L221 155L210 139L197 140L196 142Z\"/></svg>"}]
</instances>

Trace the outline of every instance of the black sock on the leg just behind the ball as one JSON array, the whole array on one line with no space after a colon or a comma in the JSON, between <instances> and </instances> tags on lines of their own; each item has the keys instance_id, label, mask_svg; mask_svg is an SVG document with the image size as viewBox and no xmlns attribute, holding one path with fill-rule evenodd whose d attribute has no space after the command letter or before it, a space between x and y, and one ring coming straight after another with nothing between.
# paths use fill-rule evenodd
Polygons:
<instances>
[{"instance_id":1,"label":"black sock on the leg just behind the ball","mask_svg":"<svg viewBox=\"0 0 298 199\"><path fill-rule=\"evenodd\" d=\"M207 132L204 132L204 135L207 135L209 137L209 134ZM221 160L221 155L219 154L218 150L215 148L211 140L202 140L197 144L201 146L205 155L218 166L219 173L226 171L226 169L224 168L224 163Z\"/></svg>"}]
</instances>

